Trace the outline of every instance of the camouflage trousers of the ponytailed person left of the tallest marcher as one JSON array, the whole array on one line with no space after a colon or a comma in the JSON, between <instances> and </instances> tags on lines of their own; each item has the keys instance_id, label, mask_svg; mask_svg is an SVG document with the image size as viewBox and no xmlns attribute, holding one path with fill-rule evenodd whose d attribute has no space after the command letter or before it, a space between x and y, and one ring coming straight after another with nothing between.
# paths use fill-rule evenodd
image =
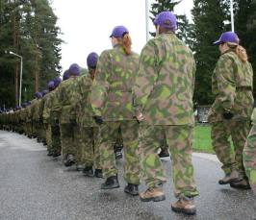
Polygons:
<instances>
[{"instance_id":1,"label":"camouflage trousers of the ponytailed person left of the tallest marcher","mask_svg":"<svg viewBox=\"0 0 256 220\"><path fill-rule=\"evenodd\" d=\"M99 152L104 178L118 173L115 165L114 145L121 128L124 151L124 180L127 183L141 183L141 167L138 156L139 124L135 120L107 121L99 128Z\"/></svg>"}]
</instances>

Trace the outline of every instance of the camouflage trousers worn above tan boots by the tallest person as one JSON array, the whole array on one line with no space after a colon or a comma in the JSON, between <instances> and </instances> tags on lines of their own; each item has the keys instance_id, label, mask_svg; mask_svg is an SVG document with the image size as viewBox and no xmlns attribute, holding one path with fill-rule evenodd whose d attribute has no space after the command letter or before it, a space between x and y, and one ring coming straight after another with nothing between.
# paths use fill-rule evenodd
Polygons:
<instances>
[{"instance_id":1,"label":"camouflage trousers worn above tan boots by the tallest person","mask_svg":"<svg viewBox=\"0 0 256 220\"><path fill-rule=\"evenodd\" d=\"M148 187L166 183L166 171L158 150L165 139L171 154L174 195L196 196L192 166L193 127L170 125L140 126L140 156L143 179Z\"/></svg>"}]
</instances>

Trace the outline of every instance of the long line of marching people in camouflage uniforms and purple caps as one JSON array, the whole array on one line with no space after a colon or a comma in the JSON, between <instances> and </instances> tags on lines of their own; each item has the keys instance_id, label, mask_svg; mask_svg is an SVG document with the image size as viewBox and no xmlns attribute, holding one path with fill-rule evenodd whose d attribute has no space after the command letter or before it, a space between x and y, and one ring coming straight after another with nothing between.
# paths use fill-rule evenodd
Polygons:
<instances>
[{"instance_id":1,"label":"long line of marching people in camouflage uniforms and purple caps","mask_svg":"<svg viewBox=\"0 0 256 220\"><path fill-rule=\"evenodd\" d=\"M1 114L0 125L30 138L37 136L38 142L47 144L48 156L63 154L65 166L76 164L86 176L105 178L102 189L119 187L115 159L120 151L115 154L115 146L123 146L124 191L139 195L143 173L148 188L140 194L141 202L166 199L166 171L159 158L169 150L178 198L171 208L194 214L193 197L198 195L192 166L195 61L192 51L175 36L176 17L171 12L160 13L154 23L157 37L145 44L140 56L131 50L128 29L116 26L110 36L113 49L99 57L94 52L88 56L90 74L80 77L79 65L71 64L63 81L57 77L48 84L49 92L37 92L23 108ZM243 189L251 185L255 192L256 110L248 135L251 65L235 33L224 33L215 44L222 55L213 74L217 98L208 119L226 175L219 184ZM230 135L236 156L230 151Z\"/></svg>"}]
</instances>

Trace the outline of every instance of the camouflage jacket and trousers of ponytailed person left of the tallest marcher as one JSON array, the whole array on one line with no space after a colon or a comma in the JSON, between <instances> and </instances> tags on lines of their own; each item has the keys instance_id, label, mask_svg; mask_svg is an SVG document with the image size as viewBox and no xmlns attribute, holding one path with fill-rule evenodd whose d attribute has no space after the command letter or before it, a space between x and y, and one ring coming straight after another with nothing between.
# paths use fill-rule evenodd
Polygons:
<instances>
[{"instance_id":1,"label":"camouflage jacket and trousers of ponytailed person left of the tallest marcher","mask_svg":"<svg viewBox=\"0 0 256 220\"><path fill-rule=\"evenodd\" d=\"M138 71L139 55L126 55L122 44L101 53L91 88L93 115L102 116L99 152L104 178L115 175L114 145L121 129L124 149L124 180L140 184L138 158L139 124L132 114L132 88Z\"/></svg>"}]
</instances>

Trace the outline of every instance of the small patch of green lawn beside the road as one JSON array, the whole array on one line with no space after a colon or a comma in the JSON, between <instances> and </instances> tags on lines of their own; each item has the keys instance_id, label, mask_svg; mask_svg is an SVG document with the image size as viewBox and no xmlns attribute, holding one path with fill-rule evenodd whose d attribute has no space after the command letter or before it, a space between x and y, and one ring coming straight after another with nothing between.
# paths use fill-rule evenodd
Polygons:
<instances>
[{"instance_id":1,"label":"small patch of green lawn beside the road","mask_svg":"<svg viewBox=\"0 0 256 220\"><path fill-rule=\"evenodd\" d=\"M215 154L211 140L211 127L194 127L193 152L204 152Z\"/></svg>"}]
</instances>

